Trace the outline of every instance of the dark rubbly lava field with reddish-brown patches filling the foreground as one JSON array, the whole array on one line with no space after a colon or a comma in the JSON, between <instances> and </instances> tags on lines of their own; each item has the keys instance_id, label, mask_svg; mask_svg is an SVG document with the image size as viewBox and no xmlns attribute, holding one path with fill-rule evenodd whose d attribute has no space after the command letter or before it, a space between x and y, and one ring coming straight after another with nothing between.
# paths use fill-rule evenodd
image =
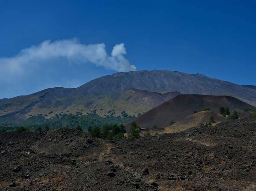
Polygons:
<instances>
[{"instance_id":1,"label":"dark rubbly lava field with reddish-brown patches filling the foreground","mask_svg":"<svg viewBox=\"0 0 256 191\"><path fill-rule=\"evenodd\" d=\"M74 129L0 133L0 190L256 190L256 121L111 142Z\"/></svg>"}]
</instances>

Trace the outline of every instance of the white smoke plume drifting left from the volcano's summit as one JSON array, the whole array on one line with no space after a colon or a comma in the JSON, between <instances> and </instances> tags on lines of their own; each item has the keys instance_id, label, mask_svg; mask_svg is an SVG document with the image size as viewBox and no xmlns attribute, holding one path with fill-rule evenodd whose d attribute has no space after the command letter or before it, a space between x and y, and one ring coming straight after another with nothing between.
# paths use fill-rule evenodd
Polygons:
<instances>
[{"instance_id":1,"label":"white smoke plume drifting left from the volcano's summit","mask_svg":"<svg viewBox=\"0 0 256 191\"><path fill-rule=\"evenodd\" d=\"M38 46L31 46L20 50L20 53L11 58L0 58L0 80L10 76L24 75L26 71L33 71L38 65L46 65L52 60L62 59L68 63L93 63L98 67L117 72L134 71L136 67L129 63L124 55L124 44L113 47L111 56L106 53L105 44L81 44L76 39L43 41Z\"/></svg>"}]
</instances>

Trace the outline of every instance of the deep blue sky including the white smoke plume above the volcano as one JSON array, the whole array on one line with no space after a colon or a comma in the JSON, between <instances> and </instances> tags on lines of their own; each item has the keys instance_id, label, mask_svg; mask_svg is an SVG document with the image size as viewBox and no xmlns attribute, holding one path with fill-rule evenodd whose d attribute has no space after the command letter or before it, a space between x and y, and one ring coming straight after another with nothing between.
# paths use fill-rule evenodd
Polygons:
<instances>
[{"instance_id":1,"label":"deep blue sky including the white smoke plume above the volcano","mask_svg":"<svg viewBox=\"0 0 256 191\"><path fill-rule=\"evenodd\" d=\"M132 65L256 85L255 8L254 1L0 1L0 98L77 87Z\"/></svg>"}]
</instances>

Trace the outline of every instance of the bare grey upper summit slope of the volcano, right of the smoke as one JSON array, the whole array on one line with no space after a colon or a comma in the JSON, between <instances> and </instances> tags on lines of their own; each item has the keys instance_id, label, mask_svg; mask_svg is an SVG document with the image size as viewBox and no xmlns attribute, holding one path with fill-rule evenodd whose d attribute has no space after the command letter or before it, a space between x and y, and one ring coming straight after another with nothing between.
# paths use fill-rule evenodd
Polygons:
<instances>
[{"instance_id":1,"label":"bare grey upper summit slope of the volcano, right of the smoke","mask_svg":"<svg viewBox=\"0 0 256 191\"><path fill-rule=\"evenodd\" d=\"M182 94L229 95L256 106L256 90L204 76L169 70L120 72L112 76L129 87Z\"/></svg>"}]
</instances>

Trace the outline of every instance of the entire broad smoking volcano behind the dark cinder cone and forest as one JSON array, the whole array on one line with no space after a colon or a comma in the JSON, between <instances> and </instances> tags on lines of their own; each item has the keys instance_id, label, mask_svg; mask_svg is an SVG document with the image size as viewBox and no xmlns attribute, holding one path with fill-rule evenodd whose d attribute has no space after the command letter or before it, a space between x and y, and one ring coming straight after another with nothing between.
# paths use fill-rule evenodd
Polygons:
<instances>
[{"instance_id":1,"label":"entire broad smoking volcano behind the dark cinder cone and forest","mask_svg":"<svg viewBox=\"0 0 256 191\"><path fill-rule=\"evenodd\" d=\"M171 93L167 93L171 92ZM228 95L256 105L256 90L201 74L168 70L120 72L77 88L48 88L30 95L0 99L0 117L23 121L31 115L59 113L137 116L178 94Z\"/></svg>"}]
</instances>

